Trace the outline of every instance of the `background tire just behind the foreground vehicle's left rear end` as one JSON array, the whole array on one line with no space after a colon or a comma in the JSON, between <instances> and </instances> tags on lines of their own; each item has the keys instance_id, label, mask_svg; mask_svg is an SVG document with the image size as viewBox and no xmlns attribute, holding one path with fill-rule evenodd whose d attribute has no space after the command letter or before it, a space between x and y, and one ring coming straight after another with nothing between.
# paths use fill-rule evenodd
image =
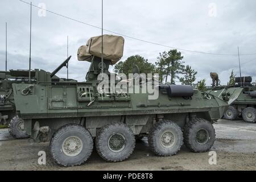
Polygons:
<instances>
[{"instance_id":1,"label":"background tire just behind the foreground vehicle's left rear end","mask_svg":"<svg viewBox=\"0 0 256 182\"><path fill-rule=\"evenodd\" d=\"M13 119L11 119L9 124L9 133L17 139L28 138L26 130L24 129L24 120L18 116L15 116Z\"/></svg>"}]
</instances>

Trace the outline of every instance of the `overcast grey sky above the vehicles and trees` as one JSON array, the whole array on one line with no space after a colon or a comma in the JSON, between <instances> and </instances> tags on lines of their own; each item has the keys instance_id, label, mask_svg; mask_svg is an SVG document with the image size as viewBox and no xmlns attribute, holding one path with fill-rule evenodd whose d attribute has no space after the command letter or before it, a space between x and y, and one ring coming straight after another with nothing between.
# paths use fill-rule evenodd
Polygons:
<instances>
[{"instance_id":1,"label":"overcast grey sky above the vehicles and trees","mask_svg":"<svg viewBox=\"0 0 256 182\"><path fill-rule=\"evenodd\" d=\"M27 1L27 0L24 0ZM28 1L27 1L28 2ZM30 2L30 1L29 1ZM46 9L95 26L101 26L101 0L48 1L32 0ZM42 5L42 4L41 4ZM5 22L8 23L8 69L28 69L30 5L19 0L0 1L0 70L5 70ZM105 0L104 28L120 34L195 51L237 54L240 46L243 76L256 79L256 1L207 0ZM101 30L51 13L39 16L32 8L32 69L53 71L67 57L69 36L69 78L85 80L89 63L77 61L77 48ZM41 14L42 15L42 14ZM104 32L104 34L110 34ZM122 60L141 55L155 63L159 52L167 47L156 46L125 37ZM221 84L226 84L232 69L239 75L237 56L208 55L181 51L185 64L195 69L197 81L217 72ZM63 68L59 77L66 76Z\"/></svg>"}]
</instances>

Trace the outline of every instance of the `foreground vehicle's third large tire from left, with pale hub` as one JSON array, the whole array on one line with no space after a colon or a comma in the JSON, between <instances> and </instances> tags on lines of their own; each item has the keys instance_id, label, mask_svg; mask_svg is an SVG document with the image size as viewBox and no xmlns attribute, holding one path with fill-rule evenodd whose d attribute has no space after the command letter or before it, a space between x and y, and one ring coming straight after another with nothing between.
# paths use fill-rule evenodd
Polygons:
<instances>
[{"instance_id":1,"label":"foreground vehicle's third large tire from left, with pale hub","mask_svg":"<svg viewBox=\"0 0 256 182\"><path fill-rule=\"evenodd\" d=\"M163 120L152 127L148 134L150 150L159 156L175 155L183 144L180 127L168 120Z\"/></svg>"}]
</instances>

